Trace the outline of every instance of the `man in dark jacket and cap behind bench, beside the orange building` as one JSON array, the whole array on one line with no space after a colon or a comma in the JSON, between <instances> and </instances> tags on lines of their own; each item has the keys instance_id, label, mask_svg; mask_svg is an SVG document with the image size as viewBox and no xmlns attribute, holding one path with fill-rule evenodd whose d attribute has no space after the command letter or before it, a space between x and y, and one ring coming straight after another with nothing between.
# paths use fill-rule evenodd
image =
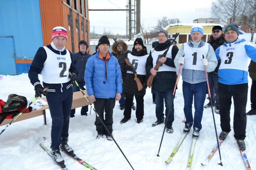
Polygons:
<instances>
[{"instance_id":1,"label":"man in dark jacket and cap behind bench, beside the orange building","mask_svg":"<svg viewBox=\"0 0 256 170\"><path fill-rule=\"evenodd\" d=\"M84 88L85 85L85 81L84 81L84 70L85 70L85 65L87 63L87 60L90 56L90 54L87 53L87 42L84 40L79 41L78 44L78 48L79 48L79 52L73 54L73 59L74 59L74 64L76 66L77 69L77 84L79 85L80 88L82 88L82 90L86 90ZM73 87L73 92L78 92L79 87L76 85L75 82L72 82L72 87ZM75 117L75 112L76 109L72 109L70 111L70 117ZM87 116L87 112L88 112L88 106L83 106L81 109L81 115L85 115Z\"/></svg>"}]
</instances>

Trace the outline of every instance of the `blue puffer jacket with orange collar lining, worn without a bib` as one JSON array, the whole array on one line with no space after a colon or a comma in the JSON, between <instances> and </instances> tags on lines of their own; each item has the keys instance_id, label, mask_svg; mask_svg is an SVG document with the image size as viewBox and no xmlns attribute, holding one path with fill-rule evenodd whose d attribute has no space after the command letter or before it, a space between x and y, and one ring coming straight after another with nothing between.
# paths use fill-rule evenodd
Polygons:
<instances>
[{"instance_id":1,"label":"blue puffer jacket with orange collar lining, worn without a bib","mask_svg":"<svg viewBox=\"0 0 256 170\"><path fill-rule=\"evenodd\" d=\"M110 58L106 61L99 57L99 51L92 55L86 63L84 80L88 95L96 98L116 98L116 93L122 93L122 74L115 56L108 52Z\"/></svg>"}]
</instances>

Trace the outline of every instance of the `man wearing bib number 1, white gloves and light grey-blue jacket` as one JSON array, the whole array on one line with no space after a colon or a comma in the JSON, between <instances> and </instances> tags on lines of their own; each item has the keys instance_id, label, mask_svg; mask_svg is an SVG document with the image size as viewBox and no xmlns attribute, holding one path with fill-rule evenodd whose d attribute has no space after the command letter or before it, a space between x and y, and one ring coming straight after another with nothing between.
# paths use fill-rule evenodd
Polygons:
<instances>
[{"instance_id":1,"label":"man wearing bib number 1, white gloves and light grey-blue jacket","mask_svg":"<svg viewBox=\"0 0 256 170\"><path fill-rule=\"evenodd\" d=\"M204 66L207 72L211 72L216 68L218 63L212 46L203 41L203 35L204 29L202 26L192 26L190 32L191 40L182 44L174 60L177 69L179 69L180 64L182 64L183 110L186 117L183 131L188 133L194 122L193 137L199 137L199 132L202 129L201 121L206 95ZM192 114L193 96L195 107L194 121Z\"/></svg>"}]
</instances>

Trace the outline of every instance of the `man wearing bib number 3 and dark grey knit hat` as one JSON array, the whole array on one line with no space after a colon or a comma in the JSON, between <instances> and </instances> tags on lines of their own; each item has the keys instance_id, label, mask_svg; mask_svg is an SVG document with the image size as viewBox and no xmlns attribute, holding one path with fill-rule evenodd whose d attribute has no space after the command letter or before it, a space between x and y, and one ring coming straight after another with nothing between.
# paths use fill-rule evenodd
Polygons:
<instances>
[{"instance_id":1,"label":"man wearing bib number 3 and dark grey knit hat","mask_svg":"<svg viewBox=\"0 0 256 170\"><path fill-rule=\"evenodd\" d=\"M246 103L248 95L249 59L256 61L256 48L244 39L238 39L239 31L236 24L225 28L226 43L220 46L215 54L220 60L219 96L220 96L220 139L225 139L230 132L231 98L234 100L234 137L238 147L245 150Z\"/></svg>"}]
</instances>

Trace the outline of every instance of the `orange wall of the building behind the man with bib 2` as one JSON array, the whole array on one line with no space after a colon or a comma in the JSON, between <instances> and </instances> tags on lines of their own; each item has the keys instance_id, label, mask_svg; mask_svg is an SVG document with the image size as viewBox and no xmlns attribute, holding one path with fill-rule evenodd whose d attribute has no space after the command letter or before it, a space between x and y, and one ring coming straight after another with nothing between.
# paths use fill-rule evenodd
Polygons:
<instances>
[{"instance_id":1,"label":"orange wall of the building behind the man with bib 2","mask_svg":"<svg viewBox=\"0 0 256 170\"><path fill-rule=\"evenodd\" d=\"M71 0L70 0L71 1ZM84 0L83 0L84 1ZM43 31L43 41L44 46L49 45L52 42L52 29L56 26L63 26L68 31L68 41L66 44L66 48L71 52L78 52L78 42L80 40L89 41L90 40L90 24L89 24L89 16L86 16L84 19L81 15L78 15L79 18L79 31L80 31L80 40L78 40L78 30L76 28L76 18L77 12L71 10L74 7L74 0L72 0L72 7L70 8L63 2L67 2L66 0L40 0L40 12L41 12L41 22L42 22L42 31ZM87 0L88 5L88 0ZM84 3L82 10L84 10ZM80 11L80 0L78 0L78 9ZM85 14L85 11L84 11ZM89 10L87 7L87 14L89 14ZM72 24L69 24L68 15L72 15ZM84 32L82 33L81 22L84 20ZM86 24L87 24L87 33L86 33ZM71 32L71 28L73 28L73 34ZM84 35L83 35L84 34ZM83 38L84 36L84 38ZM88 36L88 37L87 37ZM73 41L72 41L73 40ZM88 42L87 41L87 42ZM88 42L88 46L90 41ZM73 49L73 50L72 50Z\"/></svg>"}]
</instances>

